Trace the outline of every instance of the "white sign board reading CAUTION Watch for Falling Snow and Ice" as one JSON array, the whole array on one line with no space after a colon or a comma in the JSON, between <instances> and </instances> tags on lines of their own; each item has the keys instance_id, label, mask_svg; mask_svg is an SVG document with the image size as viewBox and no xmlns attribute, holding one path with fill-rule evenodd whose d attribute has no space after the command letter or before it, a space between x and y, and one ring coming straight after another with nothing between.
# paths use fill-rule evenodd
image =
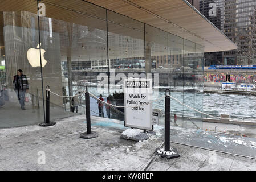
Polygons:
<instances>
[{"instance_id":1,"label":"white sign board reading CAUTION Watch for Falling Snow and Ice","mask_svg":"<svg viewBox=\"0 0 256 182\"><path fill-rule=\"evenodd\" d=\"M128 78L124 80L124 126L153 130L152 93L152 79Z\"/></svg>"}]
</instances>

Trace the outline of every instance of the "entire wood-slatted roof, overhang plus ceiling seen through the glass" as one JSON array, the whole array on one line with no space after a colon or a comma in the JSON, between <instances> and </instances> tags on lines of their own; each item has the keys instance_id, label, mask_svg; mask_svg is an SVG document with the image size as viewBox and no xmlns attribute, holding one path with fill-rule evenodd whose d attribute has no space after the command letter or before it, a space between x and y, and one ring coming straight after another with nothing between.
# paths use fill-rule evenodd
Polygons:
<instances>
[{"instance_id":1,"label":"entire wood-slatted roof, overhang plus ceiling seen through the glass","mask_svg":"<svg viewBox=\"0 0 256 182\"><path fill-rule=\"evenodd\" d=\"M237 49L237 46L229 38L185 0L88 0L87 2L83 0L42 0L41 2L46 3L46 16L66 22L105 30L105 11L101 8L105 7L132 18L109 13L109 18L117 23L128 24L139 30L141 24L135 21L139 20L201 44L205 47L205 52ZM36 13L36 1L1 0L0 11ZM94 17L86 14L97 16L99 20L96 21ZM84 18L85 16L87 18ZM143 38L143 33L133 30L124 31L121 26L111 26L109 31Z\"/></svg>"}]
</instances>

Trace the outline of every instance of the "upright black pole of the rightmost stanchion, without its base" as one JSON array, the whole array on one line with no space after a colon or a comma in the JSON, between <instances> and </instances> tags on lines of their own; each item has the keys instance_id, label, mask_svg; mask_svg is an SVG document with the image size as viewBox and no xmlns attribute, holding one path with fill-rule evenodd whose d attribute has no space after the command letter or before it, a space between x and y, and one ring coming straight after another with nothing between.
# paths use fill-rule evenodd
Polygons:
<instances>
[{"instance_id":1,"label":"upright black pole of the rightmost stanchion, without its base","mask_svg":"<svg viewBox=\"0 0 256 182\"><path fill-rule=\"evenodd\" d=\"M168 94L167 94L168 92ZM170 151L170 90L165 90L164 151Z\"/></svg>"}]
</instances>

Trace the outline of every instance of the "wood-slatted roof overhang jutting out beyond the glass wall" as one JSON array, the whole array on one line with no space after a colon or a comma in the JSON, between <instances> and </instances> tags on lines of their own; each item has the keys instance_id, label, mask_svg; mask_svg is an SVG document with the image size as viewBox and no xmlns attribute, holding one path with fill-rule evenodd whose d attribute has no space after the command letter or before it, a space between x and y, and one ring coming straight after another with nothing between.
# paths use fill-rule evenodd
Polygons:
<instances>
[{"instance_id":1,"label":"wood-slatted roof overhang jutting out beyond the glass wall","mask_svg":"<svg viewBox=\"0 0 256 182\"><path fill-rule=\"evenodd\" d=\"M238 48L185 0L87 1L201 44L205 47L205 52Z\"/></svg>"}]
</instances>

